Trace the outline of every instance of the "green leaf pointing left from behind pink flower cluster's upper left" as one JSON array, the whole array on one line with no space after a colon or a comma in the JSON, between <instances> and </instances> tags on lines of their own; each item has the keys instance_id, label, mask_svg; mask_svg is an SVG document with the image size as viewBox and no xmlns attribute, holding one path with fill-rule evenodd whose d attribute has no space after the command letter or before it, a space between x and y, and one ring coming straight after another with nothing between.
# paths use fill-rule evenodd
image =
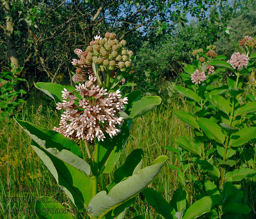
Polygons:
<instances>
[{"instance_id":1,"label":"green leaf pointing left from behind pink flower cluster's upper left","mask_svg":"<svg viewBox=\"0 0 256 219\"><path fill-rule=\"evenodd\" d=\"M61 96L63 93L61 91L64 91L64 88L68 89L69 92L75 91L74 87L71 86L63 86L61 84L55 84L55 83L45 83L45 82L37 82L34 83L35 87L38 88L40 91L46 93L48 96L52 97L54 99L55 103L59 103L63 100L63 97ZM77 97L80 97L80 95L76 94Z\"/></svg>"}]
</instances>

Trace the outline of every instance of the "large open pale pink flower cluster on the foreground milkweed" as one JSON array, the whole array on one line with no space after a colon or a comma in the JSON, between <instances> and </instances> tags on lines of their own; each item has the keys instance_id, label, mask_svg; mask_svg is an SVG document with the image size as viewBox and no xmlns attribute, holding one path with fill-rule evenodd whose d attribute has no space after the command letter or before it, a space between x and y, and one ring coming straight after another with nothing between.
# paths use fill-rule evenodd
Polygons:
<instances>
[{"instance_id":1,"label":"large open pale pink flower cluster on the foreground milkweed","mask_svg":"<svg viewBox=\"0 0 256 219\"><path fill-rule=\"evenodd\" d=\"M95 84L96 77L89 76L89 81L76 85L76 91L81 97L69 92L62 91L63 103L57 103L58 110L66 110L61 115L60 127L53 130L60 132L69 139L84 139L92 142L105 138L103 132L111 138L121 130L124 120L118 117L119 111L123 111L128 98L121 98L119 89L116 92L106 92Z\"/></svg>"}]
</instances>

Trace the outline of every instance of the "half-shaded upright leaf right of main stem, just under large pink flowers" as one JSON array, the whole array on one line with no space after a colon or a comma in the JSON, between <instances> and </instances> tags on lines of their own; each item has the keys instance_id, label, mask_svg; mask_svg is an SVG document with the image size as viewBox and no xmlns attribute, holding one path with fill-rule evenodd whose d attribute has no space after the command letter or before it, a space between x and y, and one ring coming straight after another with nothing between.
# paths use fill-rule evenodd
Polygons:
<instances>
[{"instance_id":1,"label":"half-shaded upright leaf right of main stem, just under large pink flowers","mask_svg":"<svg viewBox=\"0 0 256 219\"><path fill-rule=\"evenodd\" d=\"M128 122L130 123L130 121ZM118 135L113 138L106 135L104 141L99 142L99 169L101 169L103 173L112 172L114 165L120 157L123 146L130 134L128 122L124 122L122 130Z\"/></svg>"}]
</instances>

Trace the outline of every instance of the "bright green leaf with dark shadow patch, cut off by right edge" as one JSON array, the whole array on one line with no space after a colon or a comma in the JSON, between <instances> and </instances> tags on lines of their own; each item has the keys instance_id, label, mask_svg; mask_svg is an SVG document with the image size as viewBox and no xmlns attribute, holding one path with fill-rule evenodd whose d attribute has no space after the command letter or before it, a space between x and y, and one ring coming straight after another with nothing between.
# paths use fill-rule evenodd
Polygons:
<instances>
[{"instance_id":1,"label":"bright green leaf with dark shadow patch, cut off by right edge","mask_svg":"<svg viewBox=\"0 0 256 219\"><path fill-rule=\"evenodd\" d=\"M241 131L231 135L229 145L238 147L244 145L253 138L256 138L256 127L245 127Z\"/></svg>"}]
</instances>

